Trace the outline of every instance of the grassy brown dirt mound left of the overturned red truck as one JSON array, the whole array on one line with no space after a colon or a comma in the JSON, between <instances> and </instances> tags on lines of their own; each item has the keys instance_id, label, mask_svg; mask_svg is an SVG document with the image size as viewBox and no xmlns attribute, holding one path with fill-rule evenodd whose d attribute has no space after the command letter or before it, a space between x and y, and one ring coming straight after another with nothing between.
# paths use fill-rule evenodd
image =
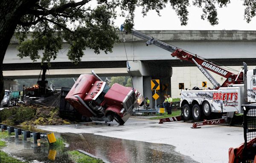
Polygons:
<instances>
[{"instance_id":1,"label":"grassy brown dirt mound left of the overturned red truck","mask_svg":"<svg viewBox=\"0 0 256 163\"><path fill-rule=\"evenodd\" d=\"M58 107L20 105L0 111L0 122L9 125L70 124L59 116Z\"/></svg>"}]
</instances>

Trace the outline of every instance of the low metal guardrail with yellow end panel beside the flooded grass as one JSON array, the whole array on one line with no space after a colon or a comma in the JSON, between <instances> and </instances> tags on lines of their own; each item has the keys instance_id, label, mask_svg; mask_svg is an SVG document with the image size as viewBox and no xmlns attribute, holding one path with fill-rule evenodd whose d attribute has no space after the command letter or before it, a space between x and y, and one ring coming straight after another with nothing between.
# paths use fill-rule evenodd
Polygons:
<instances>
[{"instance_id":1,"label":"low metal guardrail with yellow end panel beside the flooded grass","mask_svg":"<svg viewBox=\"0 0 256 163\"><path fill-rule=\"evenodd\" d=\"M44 133L44 132L31 132L25 129L20 129L14 126L9 126L6 124L0 124L1 132L5 130L8 131L8 134L11 135L12 132L15 133L15 138L19 138L19 135L23 135L23 140L26 141L27 138L34 138L34 143L37 143L38 139L47 138L49 143L54 143L56 141L54 133Z\"/></svg>"}]
</instances>

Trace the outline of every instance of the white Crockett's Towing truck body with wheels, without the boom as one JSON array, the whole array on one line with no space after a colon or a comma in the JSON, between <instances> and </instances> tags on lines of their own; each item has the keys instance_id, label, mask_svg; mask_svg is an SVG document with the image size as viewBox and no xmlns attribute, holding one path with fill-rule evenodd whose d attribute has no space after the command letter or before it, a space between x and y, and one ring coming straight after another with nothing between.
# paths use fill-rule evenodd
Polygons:
<instances>
[{"instance_id":1,"label":"white Crockett's Towing truck body with wheels, without the boom","mask_svg":"<svg viewBox=\"0 0 256 163\"><path fill-rule=\"evenodd\" d=\"M191 116L189 113L193 115L194 119L197 117L198 113L196 111L194 112L195 105L198 105L206 116L209 116L207 115L207 110L209 110L209 113L243 113L243 110L241 110L242 104L256 102L256 69L248 70L246 80L244 81L247 82L246 87L244 84L230 84L228 87L220 87L218 90L181 91L180 107L183 107L185 118ZM247 91L245 91L245 89L247 89ZM186 107L188 108L187 114ZM231 117L233 117L233 115L231 115Z\"/></svg>"}]
</instances>

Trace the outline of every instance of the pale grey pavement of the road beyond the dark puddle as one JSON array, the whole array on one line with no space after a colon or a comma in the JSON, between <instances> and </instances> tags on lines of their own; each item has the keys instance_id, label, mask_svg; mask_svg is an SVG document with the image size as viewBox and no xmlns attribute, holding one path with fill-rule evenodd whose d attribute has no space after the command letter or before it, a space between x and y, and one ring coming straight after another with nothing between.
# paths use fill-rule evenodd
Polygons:
<instances>
[{"instance_id":1,"label":"pale grey pavement of the road beyond the dark puddle","mask_svg":"<svg viewBox=\"0 0 256 163\"><path fill-rule=\"evenodd\" d=\"M169 145L172 151L191 157L199 163L227 163L228 149L244 142L243 128L237 126L208 125L191 129L192 123L171 122L158 124L159 120L129 118L123 126L108 124L78 124L38 126L60 133L91 133L122 140L142 141ZM175 148L171 148L175 147ZM161 148L166 150L167 148ZM175 162L174 162L175 163Z\"/></svg>"}]
</instances>

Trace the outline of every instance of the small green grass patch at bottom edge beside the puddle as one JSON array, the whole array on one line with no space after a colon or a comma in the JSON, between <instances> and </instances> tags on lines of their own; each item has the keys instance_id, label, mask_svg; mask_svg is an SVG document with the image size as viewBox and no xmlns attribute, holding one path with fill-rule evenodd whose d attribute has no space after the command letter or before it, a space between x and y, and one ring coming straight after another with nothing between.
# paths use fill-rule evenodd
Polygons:
<instances>
[{"instance_id":1,"label":"small green grass patch at bottom edge beside the puddle","mask_svg":"<svg viewBox=\"0 0 256 163\"><path fill-rule=\"evenodd\" d=\"M104 163L100 159L96 159L87 155L84 155L78 151L69 151L70 158L75 163Z\"/></svg>"}]
</instances>

